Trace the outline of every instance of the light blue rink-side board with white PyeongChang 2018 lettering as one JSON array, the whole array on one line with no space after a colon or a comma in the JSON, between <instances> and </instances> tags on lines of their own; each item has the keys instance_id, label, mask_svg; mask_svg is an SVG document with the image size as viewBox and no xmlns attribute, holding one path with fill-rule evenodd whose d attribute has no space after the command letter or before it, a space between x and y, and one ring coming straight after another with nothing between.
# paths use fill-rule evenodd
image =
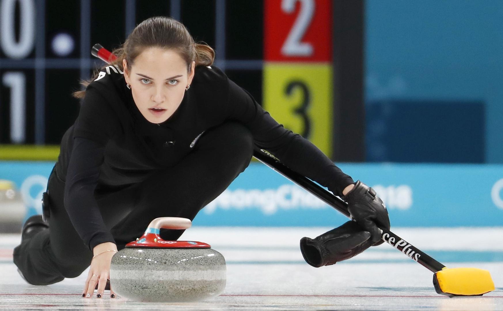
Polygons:
<instances>
[{"instance_id":1,"label":"light blue rink-side board with white PyeongChang 2018 lettering","mask_svg":"<svg viewBox=\"0 0 503 311\"><path fill-rule=\"evenodd\" d=\"M41 194L53 166L51 162L0 161L0 179L13 182L22 193L25 219L41 213ZM355 181L360 179L376 190L388 208L392 226L503 226L503 165L338 166ZM20 215L19 211L7 212ZM346 220L317 197L254 162L193 223L336 226Z\"/></svg>"}]
</instances>

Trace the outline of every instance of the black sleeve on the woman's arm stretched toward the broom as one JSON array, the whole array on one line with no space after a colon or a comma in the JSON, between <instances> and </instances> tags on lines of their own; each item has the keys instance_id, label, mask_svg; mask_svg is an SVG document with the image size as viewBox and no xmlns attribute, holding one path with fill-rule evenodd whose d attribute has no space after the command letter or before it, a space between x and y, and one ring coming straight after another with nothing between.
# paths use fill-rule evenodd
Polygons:
<instances>
[{"instance_id":1,"label":"black sleeve on the woman's arm stretched toward the broom","mask_svg":"<svg viewBox=\"0 0 503 311\"><path fill-rule=\"evenodd\" d=\"M250 129L258 147L270 151L290 169L327 187L335 195L342 196L344 188L354 183L313 143L285 129L247 91L227 81L226 114Z\"/></svg>"}]
</instances>

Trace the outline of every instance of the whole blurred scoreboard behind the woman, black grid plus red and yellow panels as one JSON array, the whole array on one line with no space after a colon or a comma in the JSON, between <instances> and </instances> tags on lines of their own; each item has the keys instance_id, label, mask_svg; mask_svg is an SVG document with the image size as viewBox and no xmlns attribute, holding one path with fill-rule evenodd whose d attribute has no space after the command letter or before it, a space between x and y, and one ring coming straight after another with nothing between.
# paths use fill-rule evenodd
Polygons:
<instances>
[{"instance_id":1,"label":"whole blurred scoreboard behind the woman, black grid plus red and yellow panels","mask_svg":"<svg viewBox=\"0 0 503 311\"><path fill-rule=\"evenodd\" d=\"M59 144L80 90L141 21L172 16L286 128L333 148L329 0L0 0L0 143Z\"/></svg>"}]
</instances>

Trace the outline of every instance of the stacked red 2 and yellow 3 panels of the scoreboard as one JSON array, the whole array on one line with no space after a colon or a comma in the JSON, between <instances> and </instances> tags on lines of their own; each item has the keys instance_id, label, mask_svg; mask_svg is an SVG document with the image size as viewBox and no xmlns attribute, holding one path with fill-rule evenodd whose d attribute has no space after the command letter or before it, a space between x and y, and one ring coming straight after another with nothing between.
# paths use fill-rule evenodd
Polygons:
<instances>
[{"instance_id":1,"label":"stacked red 2 and yellow 3 panels of the scoreboard","mask_svg":"<svg viewBox=\"0 0 503 311\"><path fill-rule=\"evenodd\" d=\"M264 10L264 109L330 155L331 2L266 0Z\"/></svg>"}]
</instances>

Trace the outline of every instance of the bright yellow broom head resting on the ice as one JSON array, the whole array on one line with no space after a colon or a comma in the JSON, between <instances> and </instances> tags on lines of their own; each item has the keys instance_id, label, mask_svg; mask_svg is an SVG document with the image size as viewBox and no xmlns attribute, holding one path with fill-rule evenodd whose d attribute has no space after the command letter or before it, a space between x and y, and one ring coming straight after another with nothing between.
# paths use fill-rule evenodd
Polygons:
<instances>
[{"instance_id":1,"label":"bright yellow broom head resting on the ice","mask_svg":"<svg viewBox=\"0 0 503 311\"><path fill-rule=\"evenodd\" d=\"M494 290L489 271L477 268L444 268L433 275L433 285L439 294L480 296Z\"/></svg>"}]
</instances>

